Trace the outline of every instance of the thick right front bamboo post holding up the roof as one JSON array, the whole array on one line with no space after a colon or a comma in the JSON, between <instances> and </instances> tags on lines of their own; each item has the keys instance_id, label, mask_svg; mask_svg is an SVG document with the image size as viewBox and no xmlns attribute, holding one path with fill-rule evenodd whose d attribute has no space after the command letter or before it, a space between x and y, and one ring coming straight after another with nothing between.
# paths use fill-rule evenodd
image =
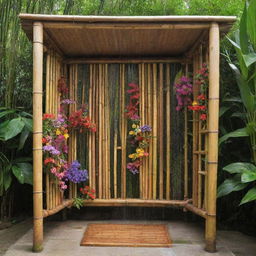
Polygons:
<instances>
[{"instance_id":1,"label":"thick right front bamboo post holding up the roof","mask_svg":"<svg viewBox=\"0 0 256 256\"><path fill-rule=\"evenodd\" d=\"M209 32L209 114L208 114L208 203L206 207L206 251L216 251L216 189L219 129L219 25Z\"/></svg>"}]
</instances>

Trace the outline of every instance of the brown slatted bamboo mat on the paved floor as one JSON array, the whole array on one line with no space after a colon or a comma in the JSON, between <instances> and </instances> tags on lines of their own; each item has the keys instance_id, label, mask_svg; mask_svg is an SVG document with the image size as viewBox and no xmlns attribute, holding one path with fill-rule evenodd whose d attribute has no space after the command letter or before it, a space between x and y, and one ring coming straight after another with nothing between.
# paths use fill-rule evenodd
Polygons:
<instances>
[{"instance_id":1,"label":"brown slatted bamboo mat on the paved floor","mask_svg":"<svg viewBox=\"0 0 256 256\"><path fill-rule=\"evenodd\" d=\"M171 247L166 225L89 224L82 246Z\"/></svg>"}]
</instances>

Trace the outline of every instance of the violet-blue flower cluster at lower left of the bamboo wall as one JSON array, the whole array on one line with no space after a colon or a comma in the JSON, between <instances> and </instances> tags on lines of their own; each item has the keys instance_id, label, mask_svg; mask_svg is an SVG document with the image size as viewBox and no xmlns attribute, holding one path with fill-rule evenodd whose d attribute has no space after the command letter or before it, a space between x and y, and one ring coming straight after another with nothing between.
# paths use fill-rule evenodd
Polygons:
<instances>
[{"instance_id":1,"label":"violet-blue flower cluster at lower left of the bamboo wall","mask_svg":"<svg viewBox=\"0 0 256 256\"><path fill-rule=\"evenodd\" d=\"M73 161L65 173L65 179L73 183L80 183L88 180L88 171L81 170L81 164L78 161Z\"/></svg>"}]
</instances>

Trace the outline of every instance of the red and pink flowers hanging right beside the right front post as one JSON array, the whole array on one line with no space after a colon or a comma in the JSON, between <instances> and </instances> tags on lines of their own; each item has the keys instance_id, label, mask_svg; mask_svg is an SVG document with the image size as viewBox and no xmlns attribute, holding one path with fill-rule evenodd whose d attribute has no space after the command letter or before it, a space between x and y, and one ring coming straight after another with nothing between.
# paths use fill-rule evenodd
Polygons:
<instances>
[{"instance_id":1,"label":"red and pink flowers hanging right beside the right front post","mask_svg":"<svg viewBox=\"0 0 256 256\"><path fill-rule=\"evenodd\" d=\"M200 95L192 102L191 106L188 106L189 110L196 111L199 113L199 118L202 121L207 119L207 98L206 94L208 91L208 67L206 64L203 64L203 67L198 71L196 75L195 84L199 86Z\"/></svg>"}]
</instances>

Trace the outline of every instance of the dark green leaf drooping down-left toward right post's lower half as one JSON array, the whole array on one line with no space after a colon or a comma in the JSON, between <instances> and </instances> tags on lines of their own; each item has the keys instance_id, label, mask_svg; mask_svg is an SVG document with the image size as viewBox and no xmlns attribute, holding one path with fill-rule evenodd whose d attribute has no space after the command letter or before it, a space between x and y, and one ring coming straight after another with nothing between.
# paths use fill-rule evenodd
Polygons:
<instances>
[{"instance_id":1,"label":"dark green leaf drooping down-left toward right post's lower half","mask_svg":"<svg viewBox=\"0 0 256 256\"><path fill-rule=\"evenodd\" d=\"M240 180L240 175L236 175L233 178L226 179L219 187L217 191L217 196L226 196L234 191L240 191L247 187L247 183L242 183Z\"/></svg>"}]
</instances>

